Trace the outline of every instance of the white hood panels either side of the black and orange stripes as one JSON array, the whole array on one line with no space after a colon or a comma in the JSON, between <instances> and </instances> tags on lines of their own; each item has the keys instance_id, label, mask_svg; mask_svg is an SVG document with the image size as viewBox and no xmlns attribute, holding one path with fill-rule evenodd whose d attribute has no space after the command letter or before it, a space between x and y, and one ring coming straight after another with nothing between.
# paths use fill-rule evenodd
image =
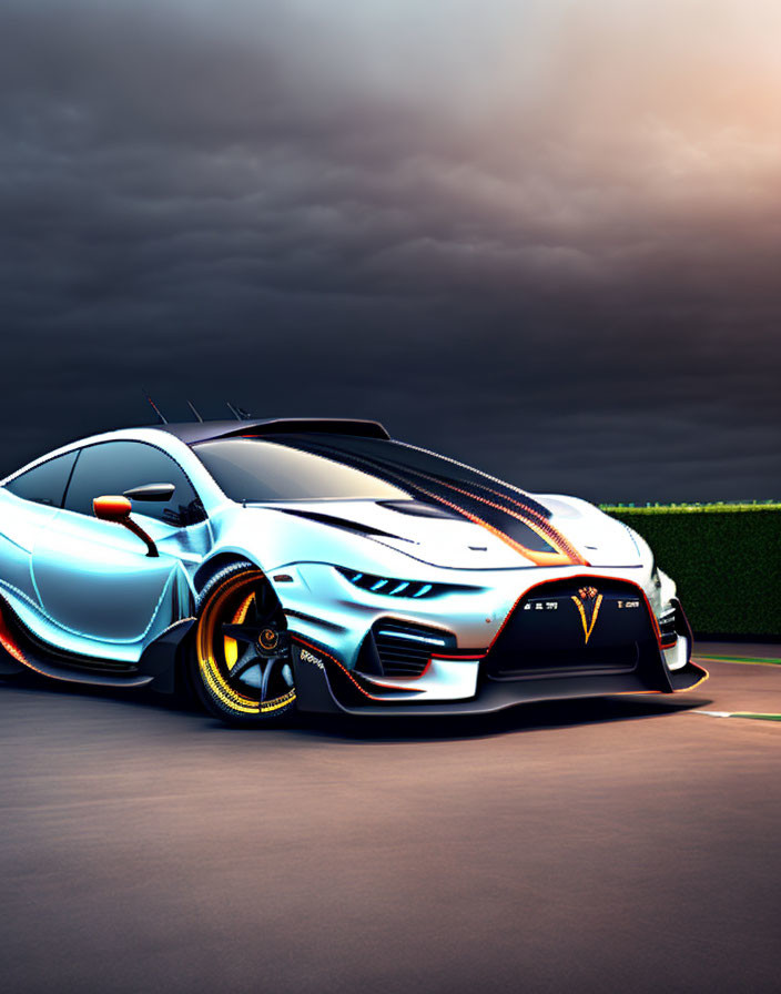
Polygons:
<instances>
[{"instance_id":1,"label":"white hood panels either side of the black and orange stripes","mask_svg":"<svg viewBox=\"0 0 781 994\"><path fill-rule=\"evenodd\" d=\"M621 523L570 497L535 499L550 524L596 567L640 566L642 549ZM432 566L452 569L513 569L532 564L488 528L418 501L298 500L262 505L323 527L361 535Z\"/></svg>"}]
</instances>

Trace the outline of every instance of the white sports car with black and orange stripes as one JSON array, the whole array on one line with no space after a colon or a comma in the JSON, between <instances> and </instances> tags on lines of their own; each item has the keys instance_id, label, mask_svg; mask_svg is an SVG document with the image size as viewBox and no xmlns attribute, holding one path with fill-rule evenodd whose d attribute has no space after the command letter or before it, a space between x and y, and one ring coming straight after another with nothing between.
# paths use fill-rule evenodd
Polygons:
<instances>
[{"instance_id":1,"label":"white sports car with black and orange stripes","mask_svg":"<svg viewBox=\"0 0 781 994\"><path fill-rule=\"evenodd\" d=\"M630 528L374 422L161 424L0 484L0 672L293 708L495 711L691 689L672 580Z\"/></svg>"}]
</instances>

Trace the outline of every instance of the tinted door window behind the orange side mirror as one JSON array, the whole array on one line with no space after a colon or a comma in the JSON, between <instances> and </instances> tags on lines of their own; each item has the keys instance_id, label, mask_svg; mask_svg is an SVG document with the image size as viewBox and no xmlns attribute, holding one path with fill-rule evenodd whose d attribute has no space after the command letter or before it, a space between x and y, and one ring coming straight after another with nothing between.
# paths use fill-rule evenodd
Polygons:
<instances>
[{"instance_id":1,"label":"tinted door window behind the orange side mirror","mask_svg":"<svg viewBox=\"0 0 781 994\"><path fill-rule=\"evenodd\" d=\"M176 489L165 503L134 503L134 515L178 526L204 519L201 501L183 469L165 453L143 442L102 442L82 448L64 506L92 515L95 497L121 495L144 484L173 484Z\"/></svg>"}]
</instances>

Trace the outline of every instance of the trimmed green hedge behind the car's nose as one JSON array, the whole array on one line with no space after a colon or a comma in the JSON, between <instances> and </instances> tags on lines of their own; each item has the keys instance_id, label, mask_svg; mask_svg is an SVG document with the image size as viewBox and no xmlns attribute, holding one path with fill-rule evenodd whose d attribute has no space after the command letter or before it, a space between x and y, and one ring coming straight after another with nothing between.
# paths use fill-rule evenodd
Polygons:
<instances>
[{"instance_id":1,"label":"trimmed green hedge behind the car's nose","mask_svg":"<svg viewBox=\"0 0 781 994\"><path fill-rule=\"evenodd\" d=\"M604 509L653 549L697 635L781 636L781 507Z\"/></svg>"}]
</instances>

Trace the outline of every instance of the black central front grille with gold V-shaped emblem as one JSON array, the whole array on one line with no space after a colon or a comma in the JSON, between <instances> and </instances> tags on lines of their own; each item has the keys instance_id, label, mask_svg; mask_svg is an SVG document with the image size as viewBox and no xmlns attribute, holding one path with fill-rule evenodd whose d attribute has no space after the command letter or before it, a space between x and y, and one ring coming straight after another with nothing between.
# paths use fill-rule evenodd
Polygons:
<instances>
[{"instance_id":1,"label":"black central front grille with gold V-shaped emblem","mask_svg":"<svg viewBox=\"0 0 781 994\"><path fill-rule=\"evenodd\" d=\"M494 680L629 672L657 641L640 590L620 580L577 577L529 591L484 663Z\"/></svg>"}]
</instances>

